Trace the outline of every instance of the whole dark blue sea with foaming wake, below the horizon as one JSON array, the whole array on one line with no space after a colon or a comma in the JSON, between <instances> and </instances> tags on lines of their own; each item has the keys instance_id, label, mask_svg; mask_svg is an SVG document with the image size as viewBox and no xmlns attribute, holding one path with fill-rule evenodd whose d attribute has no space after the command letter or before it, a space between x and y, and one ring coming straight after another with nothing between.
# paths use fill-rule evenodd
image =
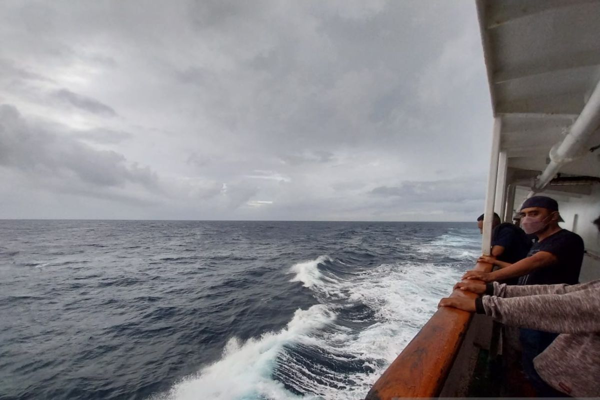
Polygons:
<instances>
[{"instance_id":1,"label":"whole dark blue sea with foaming wake, below the horizon","mask_svg":"<svg viewBox=\"0 0 600 400\"><path fill-rule=\"evenodd\" d=\"M474 223L0 221L2 399L360 399Z\"/></svg>"}]
</instances>

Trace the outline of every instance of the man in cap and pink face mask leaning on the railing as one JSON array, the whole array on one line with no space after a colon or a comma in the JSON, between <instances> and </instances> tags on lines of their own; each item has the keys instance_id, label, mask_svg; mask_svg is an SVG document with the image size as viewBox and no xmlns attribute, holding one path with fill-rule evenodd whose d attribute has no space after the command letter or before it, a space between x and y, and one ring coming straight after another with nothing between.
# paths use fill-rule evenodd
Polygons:
<instances>
[{"instance_id":1,"label":"man in cap and pink face mask leaning on the railing","mask_svg":"<svg viewBox=\"0 0 600 400\"><path fill-rule=\"evenodd\" d=\"M514 264L497 263L502 269L493 272L467 271L463 279L479 279L484 282L520 276L521 285L574 285L579 281L584 245L581 237L562 229L556 200L546 196L533 196L521 206L521 226L527 234L535 234L529 255ZM487 257L482 261L491 262ZM533 329L521 329L520 340L523 353L523 371L534 376L533 359L542 353L556 338L556 333Z\"/></svg>"}]
</instances>

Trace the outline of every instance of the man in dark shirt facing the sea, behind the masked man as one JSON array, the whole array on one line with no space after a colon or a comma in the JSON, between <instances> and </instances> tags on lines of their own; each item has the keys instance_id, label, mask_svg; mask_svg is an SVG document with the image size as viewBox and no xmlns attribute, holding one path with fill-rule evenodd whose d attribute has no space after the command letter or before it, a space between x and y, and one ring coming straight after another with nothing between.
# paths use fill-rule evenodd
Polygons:
<instances>
[{"instance_id":1,"label":"man in dark shirt facing the sea, behind the masked man","mask_svg":"<svg viewBox=\"0 0 600 400\"><path fill-rule=\"evenodd\" d=\"M481 233L483 233L483 224L484 215L482 214L477 218L477 226ZM500 216L495 212L492 228L490 254L497 261L502 261L502 264L495 262L494 264L502 267L504 264L514 264L527 257L532 242L527 238L523 229L508 222L502 224ZM509 278L500 283L516 285L517 282L518 278Z\"/></svg>"}]
</instances>

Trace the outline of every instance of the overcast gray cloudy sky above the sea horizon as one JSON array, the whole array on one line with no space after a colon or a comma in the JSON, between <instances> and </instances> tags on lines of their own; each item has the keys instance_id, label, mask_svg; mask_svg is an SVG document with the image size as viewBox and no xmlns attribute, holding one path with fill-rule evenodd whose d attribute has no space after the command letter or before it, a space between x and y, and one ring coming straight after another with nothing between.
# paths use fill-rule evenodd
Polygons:
<instances>
[{"instance_id":1,"label":"overcast gray cloudy sky above the sea horizon","mask_svg":"<svg viewBox=\"0 0 600 400\"><path fill-rule=\"evenodd\" d=\"M0 218L472 221L475 2L0 2Z\"/></svg>"}]
</instances>

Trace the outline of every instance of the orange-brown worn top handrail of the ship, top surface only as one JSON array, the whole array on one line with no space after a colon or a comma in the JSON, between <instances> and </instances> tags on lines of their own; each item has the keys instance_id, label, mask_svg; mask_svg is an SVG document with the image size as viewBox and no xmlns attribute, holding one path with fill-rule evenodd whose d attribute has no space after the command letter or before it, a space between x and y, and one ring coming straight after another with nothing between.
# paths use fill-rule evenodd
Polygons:
<instances>
[{"instance_id":1,"label":"orange-brown worn top handrail of the ship, top surface only","mask_svg":"<svg viewBox=\"0 0 600 400\"><path fill-rule=\"evenodd\" d=\"M490 272L492 265L478 263L475 269ZM477 295L454 290L451 297L475 299ZM439 308L383 372L365 400L439 396L472 316L455 308Z\"/></svg>"}]
</instances>

